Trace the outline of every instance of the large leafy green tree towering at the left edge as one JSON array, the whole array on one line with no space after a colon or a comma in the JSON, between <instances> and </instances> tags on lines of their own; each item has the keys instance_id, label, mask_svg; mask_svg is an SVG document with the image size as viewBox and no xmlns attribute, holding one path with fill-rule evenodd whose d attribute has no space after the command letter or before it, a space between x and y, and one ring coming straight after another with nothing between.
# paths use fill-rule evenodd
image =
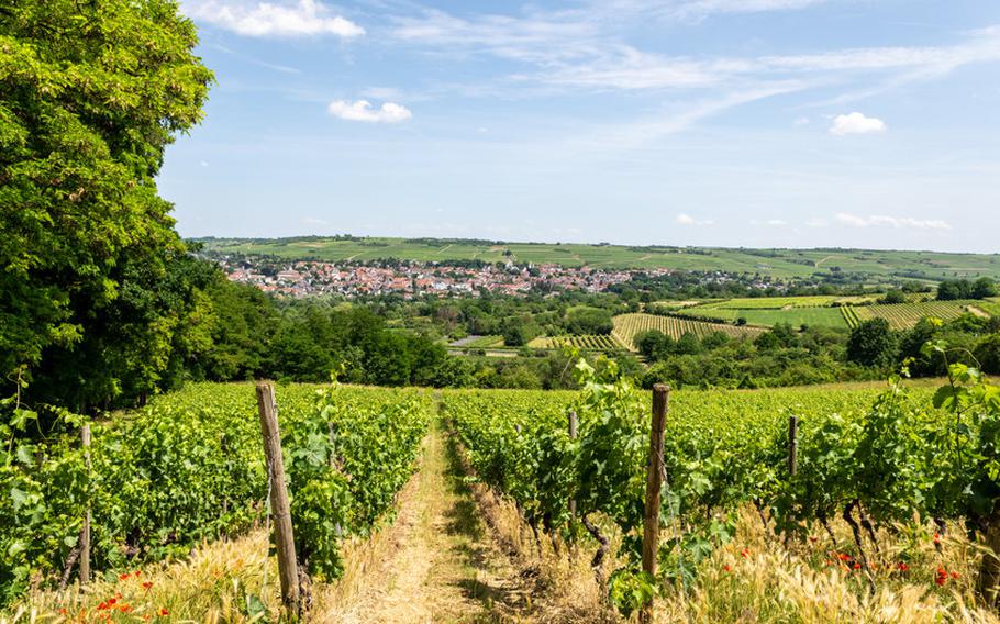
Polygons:
<instances>
[{"instance_id":1,"label":"large leafy green tree towering at the left edge","mask_svg":"<svg viewBox=\"0 0 1000 624\"><path fill-rule=\"evenodd\" d=\"M163 289L185 249L155 183L202 116L196 44L170 0L0 3L0 372L65 365L70 408L148 389L199 316Z\"/></svg>"}]
</instances>

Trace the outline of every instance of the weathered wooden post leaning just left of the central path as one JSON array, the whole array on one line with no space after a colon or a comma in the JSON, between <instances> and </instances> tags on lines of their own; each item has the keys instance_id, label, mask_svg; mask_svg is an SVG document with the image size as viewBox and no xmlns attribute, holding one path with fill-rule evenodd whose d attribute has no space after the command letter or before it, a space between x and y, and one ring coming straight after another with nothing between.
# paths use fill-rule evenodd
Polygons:
<instances>
[{"instance_id":1,"label":"weathered wooden post leaning just left of the central path","mask_svg":"<svg viewBox=\"0 0 1000 624\"><path fill-rule=\"evenodd\" d=\"M278 576L281 579L281 601L286 608L297 608L299 570L296 564L296 542L291 530L288 490L285 486L285 460L281 458L281 435L278 432L275 387L269 381L257 383L257 412L260 415L264 455L267 458L270 508L275 521L275 544L278 549Z\"/></svg>"}]
</instances>

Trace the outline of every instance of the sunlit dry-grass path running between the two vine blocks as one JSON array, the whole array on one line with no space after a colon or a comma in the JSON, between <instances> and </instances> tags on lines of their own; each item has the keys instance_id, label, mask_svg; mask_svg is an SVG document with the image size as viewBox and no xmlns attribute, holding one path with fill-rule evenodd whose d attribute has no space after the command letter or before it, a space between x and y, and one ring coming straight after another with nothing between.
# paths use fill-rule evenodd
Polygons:
<instances>
[{"instance_id":1,"label":"sunlit dry-grass path running between the two vine blocks","mask_svg":"<svg viewBox=\"0 0 1000 624\"><path fill-rule=\"evenodd\" d=\"M530 609L530 583L491 538L463 477L454 448L433 424L387 543L376 546L387 553L363 572L359 595L349 605L330 605L319 619L344 624L522 621L518 614Z\"/></svg>"}]
</instances>

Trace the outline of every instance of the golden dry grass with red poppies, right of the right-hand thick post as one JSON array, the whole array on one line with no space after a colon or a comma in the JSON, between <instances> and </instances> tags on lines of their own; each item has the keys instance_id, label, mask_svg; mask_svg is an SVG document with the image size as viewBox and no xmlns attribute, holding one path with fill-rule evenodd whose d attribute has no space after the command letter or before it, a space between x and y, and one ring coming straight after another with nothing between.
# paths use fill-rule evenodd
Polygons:
<instances>
[{"instance_id":1,"label":"golden dry grass with red poppies, right of the right-hand thick post","mask_svg":"<svg viewBox=\"0 0 1000 624\"><path fill-rule=\"evenodd\" d=\"M869 575L855 569L853 558L840 560L838 555L856 551L848 528L834 528L837 546L818 531L804 544L786 549L747 512L737 538L700 566L690 591L670 588L657 600L656 621L1000 622L976 606L979 556L957 527L953 537L942 538L940 551L930 531L879 532L879 555L874 555L870 541L865 543ZM938 568L947 572L941 586L935 580Z\"/></svg>"}]
</instances>

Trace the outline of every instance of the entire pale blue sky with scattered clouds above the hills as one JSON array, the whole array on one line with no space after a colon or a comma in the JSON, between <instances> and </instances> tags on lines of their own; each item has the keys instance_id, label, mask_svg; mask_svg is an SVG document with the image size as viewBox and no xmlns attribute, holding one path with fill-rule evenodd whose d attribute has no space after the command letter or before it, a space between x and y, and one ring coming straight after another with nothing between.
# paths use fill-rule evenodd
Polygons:
<instances>
[{"instance_id":1,"label":"entire pale blue sky with scattered clouds above the hills","mask_svg":"<svg viewBox=\"0 0 1000 624\"><path fill-rule=\"evenodd\" d=\"M186 236L1000 252L995 0L182 0Z\"/></svg>"}]
</instances>

